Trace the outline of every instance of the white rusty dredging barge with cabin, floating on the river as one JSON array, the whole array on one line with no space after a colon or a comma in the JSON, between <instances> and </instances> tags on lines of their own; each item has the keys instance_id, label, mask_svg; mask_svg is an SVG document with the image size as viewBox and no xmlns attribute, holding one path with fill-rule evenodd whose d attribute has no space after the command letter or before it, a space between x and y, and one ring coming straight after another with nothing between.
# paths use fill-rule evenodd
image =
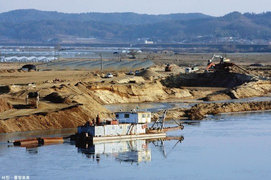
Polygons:
<instances>
[{"instance_id":1,"label":"white rusty dredging barge with cabin, floating on the river","mask_svg":"<svg viewBox=\"0 0 271 180\"><path fill-rule=\"evenodd\" d=\"M88 121L85 125L78 126L77 133L71 136L71 140L77 141L108 141L118 139L145 139L166 137L166 131L183 129L183 125L164 128L166 110L149 127L151 122L150 111L115 112L116 118L100 119ZM101 122L103 120L103 122ZM177 123L177 122L176 122ZM155 127L156 126L156 127Z\"/></svg>"}]
</instances>

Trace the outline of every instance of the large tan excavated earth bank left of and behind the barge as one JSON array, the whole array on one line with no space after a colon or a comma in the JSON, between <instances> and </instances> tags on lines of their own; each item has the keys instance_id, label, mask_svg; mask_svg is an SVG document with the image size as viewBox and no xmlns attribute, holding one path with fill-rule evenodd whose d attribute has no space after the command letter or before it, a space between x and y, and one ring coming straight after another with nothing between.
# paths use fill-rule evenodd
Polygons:
<instances>
[{"instance_id":1,"label":"large tan excavated earth bank left of and behind the barge","mask_svg":"<svg viewBox=\"0 0 271 180\"><path fill-rule=\"evenodd\" d=\"M27 92L28 90L20 91L16 95L25 96ZM73 128L95 118L97 114L101 118L113 117L113 113L103 107L103 104L107 103L142 102L191 96L188 90L164 87L159 81L141 84L78 82L54 85L42 88L38 92L43 97L41 103L56 104L56 107L58 107L57 104L64 103L67 107L56 111L44 109L43 112L0 120L0 133ZM42 110L42 105L37 110Z\"/></svg>"}]
</instances>

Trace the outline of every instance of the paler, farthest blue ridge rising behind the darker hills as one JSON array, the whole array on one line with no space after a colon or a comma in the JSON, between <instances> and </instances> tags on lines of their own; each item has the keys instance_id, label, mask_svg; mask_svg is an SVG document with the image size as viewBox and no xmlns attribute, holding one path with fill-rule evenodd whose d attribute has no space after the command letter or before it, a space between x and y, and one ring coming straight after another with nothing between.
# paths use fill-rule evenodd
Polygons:
<instances>
[{"instance_id":1,"label":"paler, farthest blue ridge rising behind the darker hills","mask_svg":"<svg viewBox=\"0 0 271 180\"><path fill-rule=\"evenodd\" d=\"M57 11L41 11L36 9L20 9L0 13L1 22L20 23L23 21L40 20L64 20L64 21L100 21L117 24L146 24L166 20L197 19L210 17L202 13L172 13L172 14L138 14L134 12L87 12L87 13L63 13Z\"/></svg>"}]
</instances>

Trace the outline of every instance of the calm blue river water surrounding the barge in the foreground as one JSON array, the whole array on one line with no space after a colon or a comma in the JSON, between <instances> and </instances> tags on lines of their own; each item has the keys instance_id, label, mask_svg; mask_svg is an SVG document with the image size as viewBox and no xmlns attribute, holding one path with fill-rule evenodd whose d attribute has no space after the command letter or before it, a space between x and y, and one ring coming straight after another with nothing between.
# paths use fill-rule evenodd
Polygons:
<instances>
[{"instance_id":1,"label":"calm blue river water surrounding the barge in the foreground","mask_svg":"<svg viewBox=\"0 0 271 180\"><path fill-rule=\"evenodd\" d=\"M132 140L78 146L20 147L7 140L69 135L76 129L0 134L0 178L270 179L271 111L185 120L181 140ZM174 126L167 121L165 126ZM23 178L22 178L23 179Z\"/></svg>"}]
</instances>

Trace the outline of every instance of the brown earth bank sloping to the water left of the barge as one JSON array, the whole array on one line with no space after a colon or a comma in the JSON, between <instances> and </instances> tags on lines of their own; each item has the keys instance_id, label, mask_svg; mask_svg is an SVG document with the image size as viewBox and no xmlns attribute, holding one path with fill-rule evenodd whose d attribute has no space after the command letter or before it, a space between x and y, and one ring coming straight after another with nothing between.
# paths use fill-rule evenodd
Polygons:
<instances>
[{"instance_id":1,"label":"brown earth bank sloping to the water left of the barge","mask_svg":"<svg viewBox=\"0 0 271 180\"><path fill-rule=\"evenodd\" d=\"M95 118L96 116L97 113L91 114L81 105L74 105L54 112L40 112L28 116L0 120L0 133L75 128L78 125L83 125L86 121ZM110 117L110 114L102 113L101 117Z\"/></svg>"}]
</instances>

